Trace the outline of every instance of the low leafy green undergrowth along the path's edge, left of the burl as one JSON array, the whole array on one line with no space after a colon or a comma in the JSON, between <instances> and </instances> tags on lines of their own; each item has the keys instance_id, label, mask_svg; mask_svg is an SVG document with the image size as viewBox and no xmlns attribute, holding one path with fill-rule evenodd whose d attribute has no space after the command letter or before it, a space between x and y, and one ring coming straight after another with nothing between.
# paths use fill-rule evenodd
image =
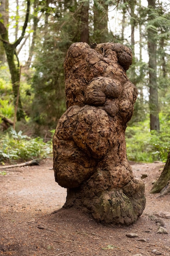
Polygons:
<instances>
[{"instance_id":1,"label":"low leafy green undergrowth along the path's edge, left of the burl","mask_svg":"<svg viewBox=\"0 0 170 256\"><path fill-rule=\"evenodd\" d=\"M39 137L31 139L22 131L11 129L0 137L0 161L41 159L52 152L51 142L46 144Z\"/></svg>"}]
</instances>

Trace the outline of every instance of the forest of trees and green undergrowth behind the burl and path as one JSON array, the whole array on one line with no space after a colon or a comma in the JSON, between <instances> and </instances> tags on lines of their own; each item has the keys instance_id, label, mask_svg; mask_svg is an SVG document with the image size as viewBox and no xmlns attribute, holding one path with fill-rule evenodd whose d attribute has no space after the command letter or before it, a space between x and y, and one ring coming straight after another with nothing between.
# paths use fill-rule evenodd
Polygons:
<instances>
[{"instance_id":1,"label":"forest of trees and green undergrowth behind the burl and path","mask_svg":"<svg viewBox=\"0 0 170 256\"><path fill-rule=\"evenodd\" d=\"M46 157L65 106L69 46L129 46L138 89L126 129L129 160L166 161L170 150L168 0L0 0L0 162Z\"/></svg>"}]
</instances>

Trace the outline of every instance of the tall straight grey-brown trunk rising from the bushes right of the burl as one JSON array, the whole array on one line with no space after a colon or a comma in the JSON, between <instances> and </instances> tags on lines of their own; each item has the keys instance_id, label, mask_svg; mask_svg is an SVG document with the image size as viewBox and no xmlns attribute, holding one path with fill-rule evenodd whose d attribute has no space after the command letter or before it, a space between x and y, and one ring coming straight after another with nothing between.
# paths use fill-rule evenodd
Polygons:
<instances>
[{"instance_id":1,"label":"tall straight grey-brown trunk rising from the bushes right of the burl","mask_svg":"<svg viewBox=\"0 0 170 256\"><path fill-rule=\"evenodd\" d=\"M155 0L148 0L148 24L153 20L152 9L155 9ZM157 31L148 28L148 54L149 54L149 107L150 130L160 130L159 102L157 86Z\"/></svg>"}]
</instances>

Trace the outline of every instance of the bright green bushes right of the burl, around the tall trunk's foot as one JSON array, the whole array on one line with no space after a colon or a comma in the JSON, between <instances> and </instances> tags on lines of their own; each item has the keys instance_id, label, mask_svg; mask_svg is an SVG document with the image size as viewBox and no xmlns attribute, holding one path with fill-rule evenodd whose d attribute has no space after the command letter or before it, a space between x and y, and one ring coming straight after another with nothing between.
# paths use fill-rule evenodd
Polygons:
<instances>
[{"instance_id":1,"label":"bright green bushes right of the burl, around the tall trunk's foot","mask_svg":"<svg viewBox=\"0 0 170 256\"><path fill-rule=\"evenodd\" d=\"M126 128L127 157L136 162L166 162L170 150L170 121L163 122L160 115L161 131L149 129L149 119Z\"/></svg>"}]
</instances>

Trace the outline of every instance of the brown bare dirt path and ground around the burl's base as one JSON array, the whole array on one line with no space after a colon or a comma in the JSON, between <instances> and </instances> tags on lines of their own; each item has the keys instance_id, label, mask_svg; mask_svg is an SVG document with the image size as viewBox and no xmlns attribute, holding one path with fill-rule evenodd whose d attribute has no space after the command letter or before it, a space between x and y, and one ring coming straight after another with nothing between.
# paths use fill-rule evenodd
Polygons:
<instances>
[{"instance_id":1,"label":"brown bare dirt path and ground around the burl's base","mask_svg":"<svg viewBox=\"0 0 170 256\"><path fill-rule=\"evenodd\" d=\"M0 175L0 255L170 256L170 193L150 194L163 163L131 163L144 178L146 208L129 227L105 225L76 209L63 209L66 189L54 181L52 159ZM158 222L158 223L157 223ZM168 234L158 234L159 222ZM129 238L126 234L138 236Z\"/></svg>"}]
</instances>

